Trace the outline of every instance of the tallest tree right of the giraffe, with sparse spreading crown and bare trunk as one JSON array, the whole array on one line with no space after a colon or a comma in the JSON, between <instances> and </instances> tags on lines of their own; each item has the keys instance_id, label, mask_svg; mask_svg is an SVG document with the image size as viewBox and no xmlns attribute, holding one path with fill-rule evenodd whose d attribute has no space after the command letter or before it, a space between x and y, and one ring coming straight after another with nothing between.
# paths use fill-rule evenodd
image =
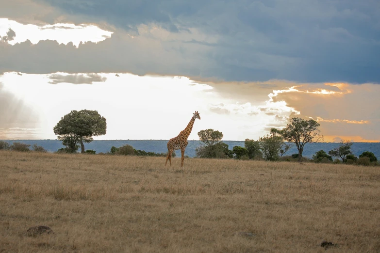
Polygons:
<instances>
[{"instance_id":1,"label":"tallest tree right of the giraffe, with sparse spreading crown and bare trunk","mask_svg":"<svg viewBox=\"0 0 380 253\"><path fill-rule=\"evenodd\" d=\"M323 135L318 129L319 123L314 119L304 120L301 118L292 118L290 124L279 130L272 128L271 132L282 136L285 141L296 144L298 150L298 161L301 161L303 148L306 143L314 143L323 140Z\"/></svg>"}]
</instances>

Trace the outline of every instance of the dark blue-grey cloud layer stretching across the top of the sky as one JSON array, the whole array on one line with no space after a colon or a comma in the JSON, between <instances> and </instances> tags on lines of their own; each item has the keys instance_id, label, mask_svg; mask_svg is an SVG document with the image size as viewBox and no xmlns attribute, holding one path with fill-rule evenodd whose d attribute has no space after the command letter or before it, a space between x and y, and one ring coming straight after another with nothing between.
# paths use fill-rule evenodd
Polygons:
<instances>
[{"instance_id":1,"label":"dark blue-grey cloud layer stretching across the top of the sky","mask_svg":"<svg viewBox=\"0 0 380 253\"><path fill-rule=\"evenodd\" d=\"M25 2L35 8L36 3ZM62 65L80 62L73 64L72 73L154 73L248 82L380 82L380 17L375 1L40 0L38 4L43 9L38 20L96 23L116 33L108 42L78 48L78 55L70 52L70 45L40 42L50 46L45 51L42 46L22 46L23 53L38 48L38 57L48 63L49 53L69 53L59 61ZM67 72L64 66L54 67L54 72ZM20 71L32 73L34 68L25 66ZM53 67L45 63L39 68L38 73L51 73Z\"/></svg>"}]
</instances>

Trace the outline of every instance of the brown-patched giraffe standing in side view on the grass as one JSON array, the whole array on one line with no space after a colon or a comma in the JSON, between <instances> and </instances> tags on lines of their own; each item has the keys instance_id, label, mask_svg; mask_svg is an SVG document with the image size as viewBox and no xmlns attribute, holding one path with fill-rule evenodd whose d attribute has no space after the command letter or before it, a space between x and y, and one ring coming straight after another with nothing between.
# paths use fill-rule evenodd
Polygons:
<instances>
[{"instance_id":1,"label":"brown-patched giraffe standing in side view on the grass","mask_svg":"<svg viewBox=\"0 0 380 253\"><path fill-rule=\"evenodd\" d=\"M180 132L180 134L177 137L174 137L170 139L167 142L167 156L165 161L165 166L167 163L167 160L169 160L169 164L171 166L171 154L173 153L173 150L181 149L181 167L183 166L183 160L184 160L184 153L187 146L187 138L189 137L191 130L193 129L195 119L200 119L198 111L195 111L193 113L193 117L191 118L189 124L186 126L184 130Z\"/></svg>"}]
</instances>

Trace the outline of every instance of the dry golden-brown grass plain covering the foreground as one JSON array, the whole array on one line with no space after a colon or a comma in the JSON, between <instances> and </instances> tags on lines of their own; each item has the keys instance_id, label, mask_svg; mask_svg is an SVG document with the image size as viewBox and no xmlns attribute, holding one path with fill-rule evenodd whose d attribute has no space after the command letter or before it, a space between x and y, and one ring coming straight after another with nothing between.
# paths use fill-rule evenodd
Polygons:
<instances>
[{"instance_id":1,"label":"dry golden-brown grass plain covering the foreground","mask_svg":"<svg viewBox=\"0 0 380 253\"><path fill-rule=\"evenodd\" d=\"M0 252L380 252L377 167L164 164L1 151Z\"/></svg>"}]
</instances>

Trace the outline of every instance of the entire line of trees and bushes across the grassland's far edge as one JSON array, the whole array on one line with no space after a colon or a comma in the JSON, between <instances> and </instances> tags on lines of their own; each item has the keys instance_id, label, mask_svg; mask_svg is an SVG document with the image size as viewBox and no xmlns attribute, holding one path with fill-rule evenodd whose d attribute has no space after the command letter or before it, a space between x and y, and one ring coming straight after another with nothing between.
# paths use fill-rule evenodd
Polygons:
<instances>
[{"instance_id":1,"label":"entire line of trees and bushes across the grassland's far edge","mask_svg":"<svg viewBox=\"0 0 380 253\"><path fill-rule=\"evenodd\" d=\"M353 143L349 141L340 142L338 147L328 151L328 153L324 150L317 151L311 159L302 157L306 143L323 140L319 126L313 119L304 120L295 117L290 120L286 127L282 129L272 128L270 134L259 137L257 141L246 139L244 147L234 146L231 150L228 144L222 142L222 132L211 128L205 129L198 132L201 145L196 148L196 155L198 158L379 165L376 156L372 152L365 151L359 157L353 155L351 151ZM92 142L93 136L105 134L106 128L106 119L100 116L98 111L70 111L53 128L54 133L58 135L58 140L61 140L65 146L58 149L56 153L77 153L78 149L81 148L81 153L96 154L95 150L85 150L84 143ZM298 153L285 156L293 145L296 146ZM47 152L37 144L31 147L29 144L20 142L13 142L10 145L8 142L0 141L0 149L21 152ZM110 152L99 154L150 157L166 157L167 155L167 153L136 150L128 144L120 147L112 146ZM172 157L175 157L175 155L174 151Z\"/></svg>"}]
</instances>

